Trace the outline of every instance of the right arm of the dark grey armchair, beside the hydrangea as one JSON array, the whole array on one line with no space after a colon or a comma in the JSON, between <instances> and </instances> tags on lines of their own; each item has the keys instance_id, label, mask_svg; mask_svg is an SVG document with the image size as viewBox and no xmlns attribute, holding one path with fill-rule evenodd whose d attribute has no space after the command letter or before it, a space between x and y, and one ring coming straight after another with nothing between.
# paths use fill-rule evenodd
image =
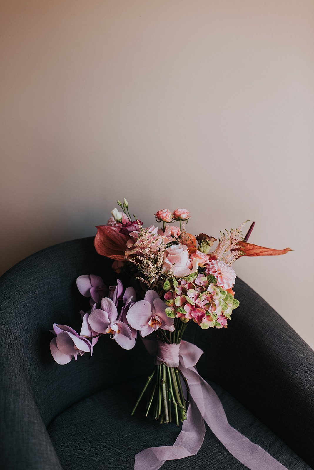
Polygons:
<instances>
[{"instance_id":1,"label":"right arm of the dark grey armchair, beside the hydrangea","mask_svg":"<svg viewBox=\"0 0 314 470\"><path fill-rule=\"evenodd\" d=\"M243 281L236 288L228 329L194 329L197 368L314 467L314 351Z\"/></svg>"}]
</instances>

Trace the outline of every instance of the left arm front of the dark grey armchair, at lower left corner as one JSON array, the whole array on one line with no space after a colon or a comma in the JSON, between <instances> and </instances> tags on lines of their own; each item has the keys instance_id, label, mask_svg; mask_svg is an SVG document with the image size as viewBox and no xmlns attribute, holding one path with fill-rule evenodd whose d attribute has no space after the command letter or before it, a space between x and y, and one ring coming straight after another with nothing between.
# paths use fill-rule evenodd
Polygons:
<instances>
[{"instance_id":1,"label":"left arm front of the dark grey armchair, at lower left corner","mask_svg":"<svg viewBox=\"0 0 314 470\"><path fill-rule=\"evenodd\" d=\"M2 325L0 337L1 469L62 470L32 396L31 371L20 342Z\"/></svg>"}]
</instances>

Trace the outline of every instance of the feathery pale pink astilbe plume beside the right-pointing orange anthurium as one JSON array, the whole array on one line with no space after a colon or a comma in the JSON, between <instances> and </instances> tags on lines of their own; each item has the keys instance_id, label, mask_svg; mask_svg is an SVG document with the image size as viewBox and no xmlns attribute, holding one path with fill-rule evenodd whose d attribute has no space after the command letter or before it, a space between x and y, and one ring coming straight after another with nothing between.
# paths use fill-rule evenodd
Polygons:
<instances>
[{"instance_id":1,"label":"feathery pale pink astilbe plume beside the right-pointing orange anthurium","mask_svg":"<svg viewBox=\"0 0 314 470\"><path fill-rule=\"evenodd\" d=\"M237 258L243 256L244 253L239 248L239 242L243 241L242 229L247 222L248 220L237 228L231 228L230 232L228 230L220 232L218 245L216 249L210 253L210 256L219 261L224 261L229 266L231 266Z\"/></svg>"}]
</instances>

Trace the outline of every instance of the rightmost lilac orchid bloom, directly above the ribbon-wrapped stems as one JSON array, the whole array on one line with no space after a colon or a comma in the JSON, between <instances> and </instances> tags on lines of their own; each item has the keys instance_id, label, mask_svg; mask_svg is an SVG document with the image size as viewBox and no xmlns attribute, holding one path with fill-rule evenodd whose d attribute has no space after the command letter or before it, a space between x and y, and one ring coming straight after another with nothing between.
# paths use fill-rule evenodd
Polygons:
<instances>
[{"instance_id":1,"label":"rightmost lilac orchid bloom, directly above the ribbon-wrapped stems","mask_svg":"<svg viewBox=\"0 0 314 470\"><path fill-rule=\"evenodd\" d=\"M145 337L158 328L174 331L173 318L165 314L165 302L155 290L148 290L144 300L134 303L126 314L129 325Z\"/></svg>"}]
</instances>

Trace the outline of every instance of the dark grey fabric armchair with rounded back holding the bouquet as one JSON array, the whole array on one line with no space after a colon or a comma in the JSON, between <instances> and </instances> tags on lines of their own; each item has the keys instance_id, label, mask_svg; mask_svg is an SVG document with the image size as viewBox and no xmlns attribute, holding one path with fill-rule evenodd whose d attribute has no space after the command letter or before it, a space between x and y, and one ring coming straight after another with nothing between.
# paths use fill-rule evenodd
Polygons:
<instances>
[{"instance_id":1,"label":"dark grey fabric armchair with rounded back holding the bouquet","mask_svg":"<svg viewBox=\"0 0 314 470\"><path fill-rule=\"evenodd\" d=\"M130 416L153 359L141 341L131 351L103 337L93 357L59 366L49 329L78 329L88 300L80 274L112 284L110 260L93 238L62 243L24 259L0 278L0 468L133 469L134 455L173 444L174 424ZM197 368L219 394L229 423L289 470L314 466L314 352L244 282L227 330L191 325L185 339L204 350ZM300 312L301 315L301 312ZM207 429L198 454L163 469L245 469ZM143 469L146 470L146 469Z\"/></svg>"}]
</instances>

